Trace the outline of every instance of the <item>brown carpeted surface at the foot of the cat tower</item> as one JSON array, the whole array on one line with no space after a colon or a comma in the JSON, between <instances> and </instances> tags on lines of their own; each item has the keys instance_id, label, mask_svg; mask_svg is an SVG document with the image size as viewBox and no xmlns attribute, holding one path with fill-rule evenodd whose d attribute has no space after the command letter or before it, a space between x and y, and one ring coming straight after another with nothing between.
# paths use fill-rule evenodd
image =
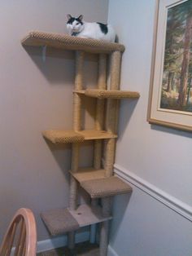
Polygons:
<instances>
[{"instance_id":1,"label":"brown carpeted surface at the foot of the cat tower","mask_svg":"<svg viewBox=\"0 0 192 256\"><path fill-rule=\"evenodd\" d=\"M90 245L89 243L81 243L76 245L74 252L70 252L67 247L59 249L51 249L49 251L37 254L37 256L98 256L98 245Z\"/></svg>"}]
</instances>

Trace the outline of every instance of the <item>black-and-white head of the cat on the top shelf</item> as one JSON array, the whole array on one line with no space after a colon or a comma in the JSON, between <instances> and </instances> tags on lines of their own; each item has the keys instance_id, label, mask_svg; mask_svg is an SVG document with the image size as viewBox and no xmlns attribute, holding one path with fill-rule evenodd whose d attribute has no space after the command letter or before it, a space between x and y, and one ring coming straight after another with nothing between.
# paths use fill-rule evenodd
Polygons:
<instances>
[{"instance_id":1,"label":"black-and-white head of the cat on the top shelf","mask_svg":"<svg viewBox=\"0 0 192 256\"><path fill-rule=\"evenodd\" d=\"M80 33L84 29L83 23L83 15L79 15L79 17L72 17L72 15L68 14L68 22L67 29L68 32L72 35L72 33Z\"/></svg>"}]
</instances>

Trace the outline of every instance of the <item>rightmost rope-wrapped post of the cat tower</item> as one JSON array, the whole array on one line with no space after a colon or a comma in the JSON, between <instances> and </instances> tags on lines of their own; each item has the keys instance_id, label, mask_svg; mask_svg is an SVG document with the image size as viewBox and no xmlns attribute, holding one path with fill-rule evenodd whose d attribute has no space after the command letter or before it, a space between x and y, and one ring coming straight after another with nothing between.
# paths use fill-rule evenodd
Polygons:
<instances>
[{"instance_id":1,"label":"rightmost rope-wrapped post of the cat tower","mask_svg":"<svg viewBox=\"0 0 192 256\"><path fill-rule=\"evenodd\" d=\"M120 90L120 62L121 53L120 51L114 51L111 54L111 81L110 90ZM116 134L117 132L117 121L119 112L119 102L117 99L107 99L107 113L106 113L106 128L107 131ZM105 154L105 170L106 176L111 177L113 174L113 164L115 160L116 151L116 139L108 139L106 143L106 154ZM103 202L103 215L109 216L111 214L111 197L102 199ZM107 245L108 245L108 232L109 232L109 221L101 224L100 233L100 256L107 256Z\"/></svg>"}]
</instances>

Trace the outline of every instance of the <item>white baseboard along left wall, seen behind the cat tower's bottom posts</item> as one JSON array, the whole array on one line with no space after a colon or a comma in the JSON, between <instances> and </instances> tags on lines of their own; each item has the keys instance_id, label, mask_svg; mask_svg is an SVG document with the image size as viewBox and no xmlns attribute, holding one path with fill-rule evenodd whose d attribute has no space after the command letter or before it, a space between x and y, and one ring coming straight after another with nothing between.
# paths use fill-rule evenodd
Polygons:
<instances>
[{"instance_id":1,"label":"white baseboard along left wall, seen behind the cat tower's bottom posts","mask_svg":"<svg viewBox=\"0 0 192 256\"><path fill-rule=\"evenodd\" d=\"M37 253L44 252L49 249L55 249L67 245L67 236L58 236L52 239L37 242ZM89 232L81 232L76 234L76 243L89 241Z\"/></svg>"}]
</instances>

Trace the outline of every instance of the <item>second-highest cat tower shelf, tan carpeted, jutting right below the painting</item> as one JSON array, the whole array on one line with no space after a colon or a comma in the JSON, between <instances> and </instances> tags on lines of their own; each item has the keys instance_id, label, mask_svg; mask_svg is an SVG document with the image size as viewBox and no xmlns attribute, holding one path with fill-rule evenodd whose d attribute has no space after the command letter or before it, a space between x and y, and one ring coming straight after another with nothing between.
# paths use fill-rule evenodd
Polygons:
<instances>
[{"instance_id":1,"label":"second-highest cat tower shelf, tan carpeted, jutting right below the painting","mask_svg":"<svg viewBox=\"0 0 192 256\"><path fill-rule=\"evenodd\" d=\"M75 90L74 92L98 99L138 99L140 97L137 91L129 90L86 89Z\"/></svg>"}]
</instances>

